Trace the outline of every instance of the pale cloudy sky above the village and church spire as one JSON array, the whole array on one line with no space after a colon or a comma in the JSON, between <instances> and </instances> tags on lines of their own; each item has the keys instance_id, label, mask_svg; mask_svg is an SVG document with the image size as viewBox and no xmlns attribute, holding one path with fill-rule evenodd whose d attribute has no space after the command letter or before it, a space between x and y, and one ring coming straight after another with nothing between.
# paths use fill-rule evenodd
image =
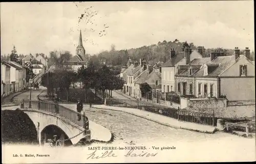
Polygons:
<instances>
[{"instance_id":1,"label":"pale cloudy sky above the village and church spire","mask_svg":"<svg viewBox=\"0 0 256 164\"><path fill-rule=\"evenodd\" d=\"M89 54L175 39L254 51L253 7L253 1L1 3L1 54L15 45L18 54L75 55L80 30ZM91 12L97 14L89 19Z\"/></svg>"}]
</instances>

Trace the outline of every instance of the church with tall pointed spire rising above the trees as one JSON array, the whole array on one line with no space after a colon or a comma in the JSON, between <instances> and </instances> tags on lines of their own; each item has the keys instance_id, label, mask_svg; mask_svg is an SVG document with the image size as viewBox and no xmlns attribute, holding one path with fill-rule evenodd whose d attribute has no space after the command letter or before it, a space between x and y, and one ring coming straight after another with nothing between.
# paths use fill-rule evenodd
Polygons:
<instances>
[{"instance_id":1,"label":"church with tall pointed spire rising above the trees","mask_svg":"<svg viewBox=\"0 0 256 164\"><path fill-rule=\"evenodd\" d=\"M70 61L65 61L66 66L77 71L82 65L87 66L88 61L86 61L86 50L82 45L82 34L80 30L78 46L76 47L76 56L74 56Z\"/></svg>"}]
</instances>

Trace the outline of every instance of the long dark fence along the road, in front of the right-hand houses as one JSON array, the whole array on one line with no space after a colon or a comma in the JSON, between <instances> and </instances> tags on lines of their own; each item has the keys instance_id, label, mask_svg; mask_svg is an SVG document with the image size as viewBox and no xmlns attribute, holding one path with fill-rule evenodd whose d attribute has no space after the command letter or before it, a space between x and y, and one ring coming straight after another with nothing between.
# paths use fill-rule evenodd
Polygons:
<instances>
[{"instance_id":1,"label":"long dark fence along the road, in front of the right-hand houses","mask_svg":"<svg viewBox=\"0 0 256 164\"><path fill-rule=\"evenodd\" d=\"M106 99L106 104L111 106L138 108L147 112L174 118L179 121L193 122L212 126L216 124L214 114L181 110L179 108L176 109L172 107L157 105L146 101L110 98Z\"/></svg>"}]
</instances>

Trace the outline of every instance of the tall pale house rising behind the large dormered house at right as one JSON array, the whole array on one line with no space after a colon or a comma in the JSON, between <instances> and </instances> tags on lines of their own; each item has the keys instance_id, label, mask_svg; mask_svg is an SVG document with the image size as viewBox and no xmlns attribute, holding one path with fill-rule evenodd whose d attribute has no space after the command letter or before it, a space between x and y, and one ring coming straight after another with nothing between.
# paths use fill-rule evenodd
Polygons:
<instances>
[{"instance_id":1,"label":"tall pale house rising behind the large dormered house at right","mask_svg":"<svg viewBox=\"0 0 256 164\"><path fill-rule=\"evenodd\" d=\"M197 50L190 48L184 52L177 52L174 48L170 50L170 59L160 66L162 74L162 92L171 92L176 90L175 74L177 73L178 65L186 65L194 59L205 57L205 48L199 46Z\"/></svg>"}]
</instances>

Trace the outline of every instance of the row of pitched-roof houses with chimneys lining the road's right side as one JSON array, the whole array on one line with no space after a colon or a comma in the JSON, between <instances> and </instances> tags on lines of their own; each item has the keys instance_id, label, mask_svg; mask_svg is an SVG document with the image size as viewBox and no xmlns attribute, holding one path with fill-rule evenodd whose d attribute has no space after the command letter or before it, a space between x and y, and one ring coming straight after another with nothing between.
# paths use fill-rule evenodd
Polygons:
<instances>
[{"instance_id":1,"label":"row of pitched-roof houses with chimneys lining the road's right side","mask_svg":"<svg viewBox=\"0 0 256 164\"><path fill-rule=\"evenodd\" d=\"M254 62L249 60L250 49L244 53L236 47L232 56L212 51L205 58L205 48L189 47L182 52L170 51L169 60L160 68L148 65L147 61L127 63L120 76L125 80L123 93L141 98L139 85L147 83L161 93L176 93L197 98L220 98L228 100L255 100Z\"/></svg>"}]
</instances>

